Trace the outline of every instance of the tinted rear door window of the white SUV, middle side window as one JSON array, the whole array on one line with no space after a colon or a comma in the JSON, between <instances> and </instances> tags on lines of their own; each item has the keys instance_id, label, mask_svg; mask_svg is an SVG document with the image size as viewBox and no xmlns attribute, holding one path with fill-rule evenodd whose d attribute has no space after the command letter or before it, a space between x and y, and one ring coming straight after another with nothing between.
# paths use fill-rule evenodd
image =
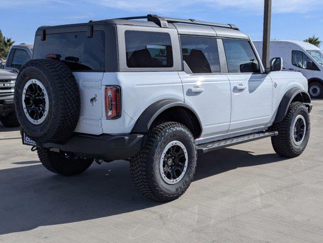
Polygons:
<instances>
[{"instance_id":1,"label":"tinted rear door window of the white SUV, middle side window","mask_svg":"<svg viewBox=\"0 0 323 243\"><path fill-rule=\"evenodd\" d=\"M216 38L181 36L183 61L193 73L220 72Z\"/></svg>"}]
</instances>

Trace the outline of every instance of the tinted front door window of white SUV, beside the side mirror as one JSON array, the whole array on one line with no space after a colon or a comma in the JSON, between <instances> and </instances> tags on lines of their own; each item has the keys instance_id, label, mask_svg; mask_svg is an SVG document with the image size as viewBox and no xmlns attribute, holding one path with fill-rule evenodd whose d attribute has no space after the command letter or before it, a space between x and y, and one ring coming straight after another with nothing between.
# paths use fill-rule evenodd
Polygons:
<instances>
[{"instance_id":1,"label":"tinted front door window of white SUV, beside the side mirror","mask_svg":"<svg viewBox=\"0 0 323 243\"><path fill-rule=\"evenodd\" d=\"M223 39L229 72L260 72L259 62L248 41Z\"/></svg>"}]
</instances>

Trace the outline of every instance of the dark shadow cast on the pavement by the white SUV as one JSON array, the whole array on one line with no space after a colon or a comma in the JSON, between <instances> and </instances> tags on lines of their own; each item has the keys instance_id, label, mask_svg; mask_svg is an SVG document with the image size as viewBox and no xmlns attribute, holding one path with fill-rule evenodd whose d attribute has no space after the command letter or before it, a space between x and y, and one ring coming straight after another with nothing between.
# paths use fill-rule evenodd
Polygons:
<instances>
[{"instance_id":1,"label":"dark shadow cast on the pavement by the white SUV","mask_svg":"<svg viewBox=\"0 0 323 243\"><path fill-rule=\"evenodd\" d=\"M274 163L276 154L253 155L222 149L200 155L195 181L237 167ZM28 165L30 161L15 164ZM193 182L194 184L194 182ZM124 160L94 164L79 176L63 177L42 165L0 170L0 234L39 226L108 217L151 208L159 203L143 197L131 183L129 163Z\"/></svg>"}]
</instances>

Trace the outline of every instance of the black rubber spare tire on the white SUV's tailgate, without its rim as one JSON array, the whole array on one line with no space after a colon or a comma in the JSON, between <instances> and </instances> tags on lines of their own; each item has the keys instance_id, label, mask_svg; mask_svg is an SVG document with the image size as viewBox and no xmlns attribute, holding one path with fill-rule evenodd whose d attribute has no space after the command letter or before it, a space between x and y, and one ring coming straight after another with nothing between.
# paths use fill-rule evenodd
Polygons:
<instances>
[{"instance_id":1,"label":"black rubber spare tire on the white SUV's tailgate, without its rim","mask_svg":"<svg viewBox=\"0 0 323 243\"><path fill-rule=\"evenodd\" d=\"M48 93L48 114L41 124L33 124L24 113L23 88L38 79ZM80 116L80 93L71 70L62 62L35 59L21 69L15 87L15 108L21 128L39 143L63 143L75 130Z\"/></svg>"}]
</instances>

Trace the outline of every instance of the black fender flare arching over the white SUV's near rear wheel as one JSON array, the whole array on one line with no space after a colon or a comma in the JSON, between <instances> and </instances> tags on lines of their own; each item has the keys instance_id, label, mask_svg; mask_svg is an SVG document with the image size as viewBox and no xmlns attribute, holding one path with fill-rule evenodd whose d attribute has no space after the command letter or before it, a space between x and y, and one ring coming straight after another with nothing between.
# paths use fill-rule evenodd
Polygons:
<instances>
[{"instance_id":1,"label":"black fender flare arching over the white SUV's near rear wheel","mask_svg":"<svg viewBox=\"0 0 323 243\"><path fill-rule=\"evenodd\" d=\"M131 133L147 133L156 117L160 115L163 111L171 107L183 107L192 111L198 119L200 127L202 129L201 120L192 107L179 100L165 99L155 102L154 104L150 105L146 110L144 110L137 119Z\"/></svg>"}]
</instances>

